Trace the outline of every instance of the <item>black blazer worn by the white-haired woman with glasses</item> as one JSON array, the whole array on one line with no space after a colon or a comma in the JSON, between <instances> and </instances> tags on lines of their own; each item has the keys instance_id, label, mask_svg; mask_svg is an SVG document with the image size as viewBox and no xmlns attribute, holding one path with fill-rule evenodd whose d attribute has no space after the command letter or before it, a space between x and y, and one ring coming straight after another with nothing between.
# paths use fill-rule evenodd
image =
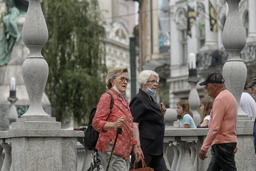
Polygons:
<instances>
[{"instance_id":1,"label":"black blazer worn by the white-haired woman with glasses","mask_svg":"<svg viewBox=\"0 0 256 171\"><path fill-rule=\"evenodd\" d=\"M156 101L143 90L131 99L133 122L140 123L140 146L143 153L163 154L164 115Z\"/></svg>"}]
</instances>

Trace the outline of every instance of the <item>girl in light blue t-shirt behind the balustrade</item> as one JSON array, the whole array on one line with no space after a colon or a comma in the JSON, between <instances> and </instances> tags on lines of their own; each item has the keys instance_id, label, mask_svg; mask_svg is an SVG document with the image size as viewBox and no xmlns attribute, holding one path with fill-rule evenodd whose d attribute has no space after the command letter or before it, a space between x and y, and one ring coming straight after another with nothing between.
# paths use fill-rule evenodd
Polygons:
<instances>
[{"instance_id":1,"label":"girl in light blue t-shirt behind the balustrade","mask_svg":"<svg viewBox=\"0 0 256 171\"><path fill-rule=\"evenodd\" d=\"M176 111L180 128L196 128L195 122L193 121L193 113L187 100L178 102Z\"/></svg>"}]
</instances>

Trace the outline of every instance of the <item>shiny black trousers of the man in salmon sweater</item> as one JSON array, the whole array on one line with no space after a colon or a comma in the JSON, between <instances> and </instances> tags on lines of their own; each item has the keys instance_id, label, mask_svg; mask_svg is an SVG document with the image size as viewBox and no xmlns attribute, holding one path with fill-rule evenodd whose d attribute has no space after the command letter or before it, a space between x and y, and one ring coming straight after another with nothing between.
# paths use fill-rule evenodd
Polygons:
<instances>
[{"instance_id":1,"label":"shiny black trousers of the man in salmon sweater","mask_svg":"<svg viewBox=\"0 0 256 171\"><path fill-rule=\"evenodd\" d=\"M211 146L211 161L207 171L237 171L234 150L237 143L221 143Z\"/></svg>"}]
</instances>

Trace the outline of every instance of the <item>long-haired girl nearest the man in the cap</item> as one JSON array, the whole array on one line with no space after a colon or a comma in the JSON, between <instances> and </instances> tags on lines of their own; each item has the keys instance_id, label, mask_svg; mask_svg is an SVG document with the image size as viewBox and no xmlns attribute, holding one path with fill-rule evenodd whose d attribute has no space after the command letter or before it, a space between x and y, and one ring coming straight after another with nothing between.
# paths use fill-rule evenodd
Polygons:
<instances>
[{"instance_id":1,"label":"long-haired girl nearest the man in the cap","mask_svg":"<svg viewBox=\"0 0 256 171\"><path fill-rule=\"evenodd\" d=\"M202 117L197 128L208 128L212 108L213 100L211 100L211 98L204 98L201 100L200 111L202 113Z\"/></svg>"}]
</instances>

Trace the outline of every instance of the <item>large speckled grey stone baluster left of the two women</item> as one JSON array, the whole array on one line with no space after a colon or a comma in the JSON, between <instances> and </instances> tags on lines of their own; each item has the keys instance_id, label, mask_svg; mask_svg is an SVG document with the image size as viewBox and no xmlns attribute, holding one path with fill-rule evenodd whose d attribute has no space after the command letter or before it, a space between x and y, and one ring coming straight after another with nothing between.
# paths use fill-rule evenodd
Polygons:
<instances>
[{"instance_id":1,"label":"large speckled grey stone baluster left of the two women","mask_svg":"<svg viewBox=\"0 0 256 171\"><path fill-rule=\"evenodd\" d=\"M28 111L21 117L50 117L42 108L48 64L41 50L48 40L48 31L40 0L29 0L28 12L22 29L22 40L30 52L22 65L22 76L30 105Z\"/></svg>"}]
</instances>

